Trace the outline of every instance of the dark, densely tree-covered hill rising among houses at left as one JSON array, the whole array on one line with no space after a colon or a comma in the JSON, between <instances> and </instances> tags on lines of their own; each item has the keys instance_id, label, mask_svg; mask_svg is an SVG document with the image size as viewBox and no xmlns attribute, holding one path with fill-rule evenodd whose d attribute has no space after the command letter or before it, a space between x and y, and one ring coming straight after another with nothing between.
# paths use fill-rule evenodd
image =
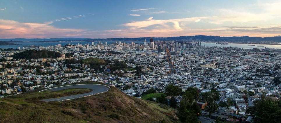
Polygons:
<instances>
[{"instance_id":1,"label":"dark, densely tree-covered hill rising among houses at left","mask_svg":"<svg viewBox=\"0 0 281 123\"><path fill-rule=\"evenodd\" d=\"M47 50L26 50L12 55L14 59L58 58L60 53Z\"/></svg>"}]
</instances>

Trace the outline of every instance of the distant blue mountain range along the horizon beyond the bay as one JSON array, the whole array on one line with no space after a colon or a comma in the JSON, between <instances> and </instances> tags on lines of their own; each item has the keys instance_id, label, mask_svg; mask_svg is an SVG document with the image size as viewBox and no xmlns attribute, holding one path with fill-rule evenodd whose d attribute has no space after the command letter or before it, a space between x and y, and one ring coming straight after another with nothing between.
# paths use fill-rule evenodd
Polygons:
<instances>
[{"instance_id":1,"label":"distant blue mountain range along the horizon beyond the bay","mask_svg":"<svg viewBox=\"0 0 281 123\"><path fill-rule=\"evenodd\" d=\"M149 42L151 37L142 37L142 38L50 38L50 39L40 39L40 38L33 38L33 39L25 39L25 38L15 38L15 39L0 39L1 41L29 41L29 42L57 42L57 41L144 41L144 38L147 39ZM271 42L281 42L281 36L276 37L249 37L249 36L241 36L241 37L220 37L220 36L206 36L206 35L195 35L195 36L178 36L178 37L166 37L166 38L155 38L152 37L153 40L176 40L176 41L187 41L187 40L202 40L204 42L263 42L263 41L271 41Z\"/></svg>"}]
</instances>

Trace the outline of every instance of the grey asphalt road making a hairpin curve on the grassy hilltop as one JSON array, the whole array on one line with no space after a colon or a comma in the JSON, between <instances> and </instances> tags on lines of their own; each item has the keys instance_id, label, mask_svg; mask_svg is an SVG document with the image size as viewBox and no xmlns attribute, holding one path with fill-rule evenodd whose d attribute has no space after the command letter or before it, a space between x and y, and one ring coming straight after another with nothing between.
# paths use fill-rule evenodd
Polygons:
<instances>
[{"instance_id":1,"label":"grey asphalt road making a hairpin curve on the grassy hilltop","mask_svg":"<svg viewBox=\"0 0 281 123\"><path fill-rule=\"evenodd\" d=\"M67 100L67 99L75 99L75 98L79 98L79 97L84 97L84 96L88 96L88 95L94 95L94 94L98 94L98 93L102 93L105 92L107 90L109 90L110 88L105 86L105 85L93 85L93 84L86 84L86 85L71 85L71 86L62 86L62 87L57 87L57 88L50 88L50 89L46 89L43 91L58 91L58 90L63 90L63 89L68 89L68 88L89 88L89 89L93 89L92 92L89 93L84 93L84 94L79 94L79 95L71 95L71 96L65 96L65 97L59 97L58 98L51 98L51 99L42 99L41 101L63 101L63 100Z\"/></svg>"}]
</instances>

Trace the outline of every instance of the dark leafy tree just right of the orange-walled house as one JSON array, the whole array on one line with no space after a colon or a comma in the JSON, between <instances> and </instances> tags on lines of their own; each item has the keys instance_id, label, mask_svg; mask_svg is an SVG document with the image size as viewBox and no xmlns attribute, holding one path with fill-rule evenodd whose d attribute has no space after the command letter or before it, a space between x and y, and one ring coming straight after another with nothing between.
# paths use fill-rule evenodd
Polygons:
<instances>
[{"instance_id":1,"label":"dark leafy tree just right of the orange-walled house","mask_svg":"<svg viewBox=\"0 0 281 123\"><path fill-rule=\"evenodd\" d=\"M215 112L215 110L218 109L218 104L216 104L216 101L220 100L221 94L216 90L211 90L208 92L202 92L201 93L202 99L207 102L206 106L204 108L208 110L210 113Z\"/></svg>"}]
</instances>

